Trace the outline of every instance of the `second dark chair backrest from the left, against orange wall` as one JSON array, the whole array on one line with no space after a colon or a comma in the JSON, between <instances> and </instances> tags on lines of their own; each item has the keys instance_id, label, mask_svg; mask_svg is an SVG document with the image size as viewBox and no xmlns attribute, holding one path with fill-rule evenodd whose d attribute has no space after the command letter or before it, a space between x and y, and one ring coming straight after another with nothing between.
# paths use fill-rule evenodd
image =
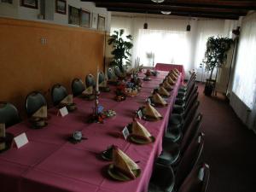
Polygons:
<instances>
[{"instance_id":1,"label":"second dark chair backrest from the left, against orange wall","mask_svg":"<svg viewBox=\"0 0 256 192\"><path fill-rule=\"evenodd\" d=\"M38 111L42 106L46 106L47 102L43 94L38 91L33 91L26 96L25 109L28 117Z\"/></svg>"}]
</instances>

